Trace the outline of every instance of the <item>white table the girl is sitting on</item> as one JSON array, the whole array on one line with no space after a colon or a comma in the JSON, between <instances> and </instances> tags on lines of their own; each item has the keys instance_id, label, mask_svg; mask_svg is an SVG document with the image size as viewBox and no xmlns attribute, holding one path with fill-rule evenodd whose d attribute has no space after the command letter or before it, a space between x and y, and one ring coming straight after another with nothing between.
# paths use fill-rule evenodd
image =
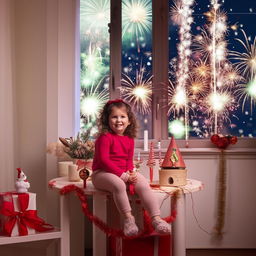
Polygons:
<instances>
[{"instance_id":1,"label":"white table the girl is sitting on","mask_svg":"<svg viewBox=\"0 0 256 256\"><path fill-rule=\"evenodd\" d=\"M56 190L61 190L63 187L75 184L79 188L83 188L83 182L69 182L67 177L55 178L49 182L51 187ZM182 187L161 187L161 190L153 191L155 193L172 193L179 191L177 199L177 217L172 223L172 245L173 256L186 256L186 241L185 241L185 199L186 194L193 193L203 189L201 181L189 179L186 186ZM164 192L165 191L165 192ZM107 196L108 193L94 188L90 180L87 181L86 195L93 197L93 214L98 216L102 221L107 221ZM171 198L171 196L170 196ZM171 200L172 201L172 200ZM68 197L60 196L60 217L61 217L61 256L70 255L70 218ZM93 255L103 256L107 255L107 237L104 232L93 225Z\"/></svg>"}]
</instances>

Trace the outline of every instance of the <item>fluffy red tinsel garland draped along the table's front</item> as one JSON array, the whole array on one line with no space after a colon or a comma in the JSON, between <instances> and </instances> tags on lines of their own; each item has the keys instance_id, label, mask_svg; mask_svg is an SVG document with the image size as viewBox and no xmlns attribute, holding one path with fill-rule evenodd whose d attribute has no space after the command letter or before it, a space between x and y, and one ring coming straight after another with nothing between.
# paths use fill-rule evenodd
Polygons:
<instances>
[{"instance_id":1,"label":"fluffy red tinsel garland draped along the table's front","mask_svg":"<svg viewBox=\"0 0 256 256\"><path fill-rule=\"evenodd\" d=\"M87 196L85 195L84 191L75 186L75 185L67 185L65 187L63 187L60 190L60 194L61 195L66 195L68 193L71 192L75 192L76 195L78 196L80 202L81 202L81 206L82 206L82 210L85 214L85 216L94 224L96 225L99 229L101 229L104 233L106 233L108 236L113 236L113 237L122 237L122 238L128 238L128 239L134 239L134 238L138 238L138 237L143 237L146 235L149 235L152 233L153 231L153 227L151 225L151 221L150 221L150 217L148 215L148 213L143 210L143 215L144 215L144 230L142 230L140 232L140 234L138 234L137 236L133 236L133 237L126 237L123 233L123 230L121 229L114 229L109 227L105 222L103 222L101 219L99 219L97 216L94 216L91 211L89 210L88 207L88 203L87 203ZM176 219L176 215L177 215L177 211L176 211L176 200L177 200L177 194L174 194L174 209L171 212L171 215L164 218L164 220L168 223L172 223L173 221L175 221Z\"/></svg>"}]
</instances>

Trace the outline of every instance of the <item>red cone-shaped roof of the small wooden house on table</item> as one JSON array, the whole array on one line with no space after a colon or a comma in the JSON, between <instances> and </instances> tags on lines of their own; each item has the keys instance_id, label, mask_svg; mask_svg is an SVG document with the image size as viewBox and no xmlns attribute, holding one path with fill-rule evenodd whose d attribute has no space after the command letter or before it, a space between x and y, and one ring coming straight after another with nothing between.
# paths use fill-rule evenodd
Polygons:
<instances>
[{"instance_id":1,"label":"red cone-shaped roof of the small wooden house on table","mask_svg":"<svg viewBox=\"0 0 256 256\"><path fill-rule=\"evenodd\" d=\"M162 168L173 168L173 169L185 169L186 165L183 161L180 150L176 144L174 137L172 136L168 150L165 154Z\"/></svg>"}]
</instances>

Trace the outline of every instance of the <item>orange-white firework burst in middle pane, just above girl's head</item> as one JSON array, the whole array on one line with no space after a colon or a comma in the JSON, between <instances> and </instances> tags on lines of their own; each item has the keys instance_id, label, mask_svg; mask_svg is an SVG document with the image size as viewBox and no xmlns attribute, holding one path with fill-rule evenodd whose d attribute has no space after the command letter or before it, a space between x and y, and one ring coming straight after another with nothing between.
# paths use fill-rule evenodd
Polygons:
<instances>
[{"instance_id":1,"label":"orange-white firework burst in middle pane, just above girl's head","mask_svg":"<svg viewBox=\"0 0 256 256\"><path fill-rule=\"evenodd\" d=\"M131 103L142 114L150 112L152 95L152 76L144 78L144 68L136 71L135 82L126 74L123 74L120 88L124 100Z\"/></svg>"}]
</instances>

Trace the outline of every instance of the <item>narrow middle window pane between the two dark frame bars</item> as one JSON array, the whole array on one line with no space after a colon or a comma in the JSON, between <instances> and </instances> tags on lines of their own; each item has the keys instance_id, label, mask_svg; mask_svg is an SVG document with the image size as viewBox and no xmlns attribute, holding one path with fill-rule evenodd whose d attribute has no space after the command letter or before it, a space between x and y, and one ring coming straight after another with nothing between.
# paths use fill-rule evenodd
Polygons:
<instances>
[{"instance_id":1,"label":"narrow middle window pane between the two dark frame bars","mask_svg":"<svg viewBox=\"0 0 256 256\"><path fill-rule=\"evenodd\" d=\"M152 94L152 1L122 1L121 94L136 112L139 138L151 130Z\"/></svg>"}]
</instances>

